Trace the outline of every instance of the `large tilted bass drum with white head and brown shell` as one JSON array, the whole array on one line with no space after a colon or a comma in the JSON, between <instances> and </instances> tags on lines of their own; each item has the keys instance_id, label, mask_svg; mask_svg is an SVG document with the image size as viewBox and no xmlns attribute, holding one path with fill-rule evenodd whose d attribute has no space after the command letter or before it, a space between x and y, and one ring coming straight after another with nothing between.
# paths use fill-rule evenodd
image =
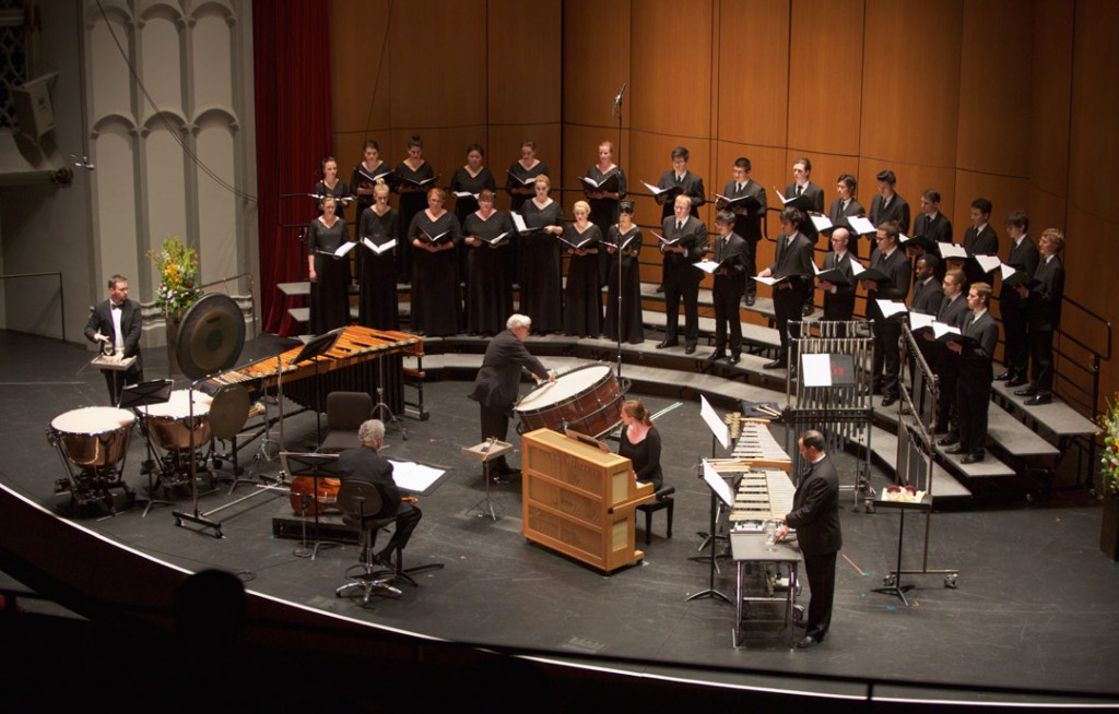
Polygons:
<instances>
[{"instance_id":1,"label":"large tilted bass drum with white head and brown shell","mask_svg":"<svg viewBox=\"0 0 1119 714\"><path fill-rule=\"evenodd\" d=\"M622 392L606 364L587 364L544 383L513 408L520 431L571 428L599 438L622 420Z\"/></svg>"}]
</instances>

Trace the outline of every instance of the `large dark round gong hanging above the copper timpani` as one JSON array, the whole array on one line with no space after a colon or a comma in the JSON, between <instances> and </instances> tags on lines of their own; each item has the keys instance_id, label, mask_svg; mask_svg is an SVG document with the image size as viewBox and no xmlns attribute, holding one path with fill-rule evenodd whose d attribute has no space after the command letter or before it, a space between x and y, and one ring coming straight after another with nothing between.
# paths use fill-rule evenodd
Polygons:
<instances>
[{"instance_id":1,"label":"large dark round gong hanging above the copper timpani","mask_svg":"<svg viewBox=\"0 0 1119 714\"><path fill-rule=\"evenodd\" d=\"M237 363L245 346L245 318L224 293L209 293L187 310L175 354L182 373L198 379Z\"/></svg>"}]
</instances>

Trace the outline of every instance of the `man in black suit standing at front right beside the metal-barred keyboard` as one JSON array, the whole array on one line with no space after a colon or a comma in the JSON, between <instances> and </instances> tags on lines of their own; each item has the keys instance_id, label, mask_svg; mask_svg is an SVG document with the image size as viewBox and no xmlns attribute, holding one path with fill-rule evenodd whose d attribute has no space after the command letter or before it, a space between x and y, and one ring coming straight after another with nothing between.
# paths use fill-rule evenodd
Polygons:
<instances>
[{"instance_id":1,"label":"man in black suit standing at front right beside the metal-barred keyboard","mask_svg":"<svg viewBox=\"0 0 1119 714\"><path fill-rule=\"evenodd\" d=\"M773 536L783 540L789 529L797 529L800 552L805 554L805 574L812 597L808 602L808 623L799 648L824 641L831 625L831 602L836 589L836 556L843 548L839 527L839 473L825 450L824 435L806 431L798 441L808 470L797 484L792 511Z\"/></svg>"}]
</instances>

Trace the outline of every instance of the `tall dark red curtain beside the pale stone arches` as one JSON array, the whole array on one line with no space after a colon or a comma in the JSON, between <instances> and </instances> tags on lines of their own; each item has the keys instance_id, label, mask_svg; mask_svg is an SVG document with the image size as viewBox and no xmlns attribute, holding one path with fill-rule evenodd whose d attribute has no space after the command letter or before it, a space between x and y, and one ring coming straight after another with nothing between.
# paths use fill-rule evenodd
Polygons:
<instances>
[{"instance_id":1,"label":"tall dark red curtain beside the pale stone arches","mask_svg":"<svg viewBox=\"0 0 1119 714\"><path fill-rule=\"evenodd\" d=\"M305 226L314 208L309 198L282 196L310 193L331 153L328 27L323 2L253 3L261 315L266 332L284 336L298 325L278 285L305 279L307 248L294 225Z\"/></svg>"}]
</instances>

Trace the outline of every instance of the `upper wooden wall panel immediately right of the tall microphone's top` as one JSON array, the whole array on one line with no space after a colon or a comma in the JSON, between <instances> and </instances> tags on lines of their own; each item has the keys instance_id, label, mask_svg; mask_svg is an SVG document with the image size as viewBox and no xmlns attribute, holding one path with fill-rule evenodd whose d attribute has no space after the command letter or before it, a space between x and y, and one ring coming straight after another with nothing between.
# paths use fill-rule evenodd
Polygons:
<instances>
[{"instance_id":1,"label":"upper wooden wall panel immediately right of the tall microphone's top","mask_svg":"<svg viewBox=\"0 0 1119 714\"><path fill-rule=\"evenodd\" d=\"M712 1L647 0L632 16L631 126L700 137L711 130ZM695 154L693 150L693 154Z\"/></svg>"}]
</instances>

